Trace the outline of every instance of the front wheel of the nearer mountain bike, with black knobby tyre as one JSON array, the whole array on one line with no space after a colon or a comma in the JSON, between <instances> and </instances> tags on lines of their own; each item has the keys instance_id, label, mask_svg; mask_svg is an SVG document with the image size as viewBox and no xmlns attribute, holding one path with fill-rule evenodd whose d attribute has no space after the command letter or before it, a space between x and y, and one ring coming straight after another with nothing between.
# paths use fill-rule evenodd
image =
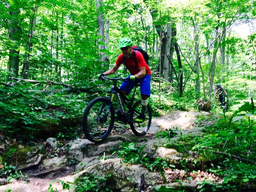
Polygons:
<instances>
[{"instance_id":1,"label":"front wheel of the nearer mountain bike, with black knobby tyre","mask_svg":"<svg viewBox=\"0 0 256 192\"><path fill-rule=\"evenodd\" d=\"M105 140L115 121L114 108L110 100L98 97L90 101L84 110L83 131L86 138L94 143Z\"/></svg>"}]
</instances>

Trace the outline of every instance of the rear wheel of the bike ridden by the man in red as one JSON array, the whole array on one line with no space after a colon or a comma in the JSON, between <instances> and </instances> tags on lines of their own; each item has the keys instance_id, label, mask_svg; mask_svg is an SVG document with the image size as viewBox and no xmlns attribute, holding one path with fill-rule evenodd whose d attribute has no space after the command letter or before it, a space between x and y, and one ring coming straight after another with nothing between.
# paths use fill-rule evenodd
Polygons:
<instances>
[{"instance_id":1,"label":"rear wheel of the bike ridden by the man in red","mask_svg":"<svg viewBox=\"0 0 256 192\"><path fill-rule=\"evenodd\" d=\"M141 112L141 101L137 101L131 110L131 123L130 127L132 129L132 132L137 135L137 136L143 136L147 133L150 124L151 124L151 119L152 119L152 111L151 107L148 105L145 111L145 120L141 123L134 122L133 119L135 119L137 116L140 115Z\"/></svg>"}]
</instances>

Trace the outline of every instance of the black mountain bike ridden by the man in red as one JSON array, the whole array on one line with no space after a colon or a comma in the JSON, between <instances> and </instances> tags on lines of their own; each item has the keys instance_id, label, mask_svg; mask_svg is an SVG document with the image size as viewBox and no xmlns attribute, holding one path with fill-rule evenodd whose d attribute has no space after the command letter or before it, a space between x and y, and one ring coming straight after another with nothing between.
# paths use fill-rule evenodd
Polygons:
<instances>
[{"instance_id":1,"label":"black mountain bike ridden by the man in red","mask_svg":"<svg viewBox=\"0 0 256 192\"><path fill-rule=\"evenodd\" d=\"M148 132L152 119L150 105L146 108L145 120L143 122L138 123L133 120L141 113L141 100L134 101L136 88L139 87L140 84L135 85L132 92L132 98L128 99L116 86L118 81L128 81L128 78L105 78L106 80L108 79L112 81L113 84L111 89L107 91L105 97L97 97L91 100L84 110L82 127L86 138L94 143L104 141L110 134L115 120L121 121L124 124L129 124L135 135L145 135ZM110 93L112 93L111 97L108 96ZM115 111L112 103L114 96L116 96L122 117L115 118ZM124 105L127 109L124 109Z\"/></svg>"}]
</instances>

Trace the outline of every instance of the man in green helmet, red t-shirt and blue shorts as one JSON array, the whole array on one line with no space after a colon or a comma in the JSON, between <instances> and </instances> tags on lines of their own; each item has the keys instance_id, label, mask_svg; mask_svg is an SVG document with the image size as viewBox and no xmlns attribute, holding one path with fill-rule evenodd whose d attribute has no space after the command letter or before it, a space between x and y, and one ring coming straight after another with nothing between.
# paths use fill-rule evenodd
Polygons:
<instances>
[{"instance_id":1,"label":"man in green helmet, red t-shirt and blue shorts","mask_svg":"<svg viewBox=\"0 0 256 192\"><path fill-rule=\"evenodd\" d=\"M148 105L148 97L150 97L151 70L144 60L142 53L139 51L136 52L132 49L132 40L130 38L124 37L120 39L118 47L121 49L122 53L117 57L116 65L104 73L98 74L97 77L104 79L104 76L114 74L121 64L124 63L125 59L125 67L129 70L130 74L127 76L129 80L124 81L120 86L120 89L124 95L128 95L134 87L134 84L140 83L142 109L141 115L137 116L134 121L143 122L145 119L146 107ZM137 65L133 59L133 54L135 54ZM115 117L121 116L121 109L118 108L115 113Z\"/></svg>"}]
</instances>

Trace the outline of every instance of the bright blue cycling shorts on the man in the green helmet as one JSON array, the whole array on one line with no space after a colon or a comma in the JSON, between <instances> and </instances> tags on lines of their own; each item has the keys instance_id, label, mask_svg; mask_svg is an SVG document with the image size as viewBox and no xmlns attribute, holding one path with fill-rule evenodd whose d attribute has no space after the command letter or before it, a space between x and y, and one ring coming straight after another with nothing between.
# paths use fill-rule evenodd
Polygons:
<instances>
[{"instance_id":1,"label":"bright blue cycling shorts on the man in the green helmet","mask_svg":"<svg viewBox=\"0 0 256 192\"><path fill-rule=\"evenodd\" d=\"M131 74L128 75L127 78L130 78L130 76ZM150 80L151 75L145 75L142 78L136 78L135 81L128 80L122 83L120 89L124 90L126 92L126 95L129 95L134 85L140 83L140 94L150 97Z\"/></svg>"}]
</instances>

